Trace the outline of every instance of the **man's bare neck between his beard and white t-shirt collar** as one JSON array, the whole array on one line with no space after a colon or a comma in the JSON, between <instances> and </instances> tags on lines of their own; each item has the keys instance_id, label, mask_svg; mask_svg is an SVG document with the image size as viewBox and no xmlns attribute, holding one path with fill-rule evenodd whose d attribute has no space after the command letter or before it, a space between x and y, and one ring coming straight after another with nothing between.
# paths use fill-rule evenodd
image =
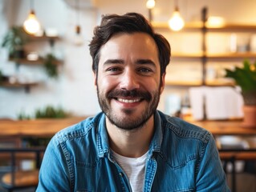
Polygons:
<instances>
[{"instance_id":1,"label":"man's bare neck between his beard and white t-shirt collar","mask_svg":"<svg viewBox=\"0 0 256 192\"><path fill-rule=\"evenodd\" d=\"M122 130L106 118L109 145L117 154L128 158L138 158L145 154L154 132L154 117L136 130Z\"/></svg>"}]
</instances>

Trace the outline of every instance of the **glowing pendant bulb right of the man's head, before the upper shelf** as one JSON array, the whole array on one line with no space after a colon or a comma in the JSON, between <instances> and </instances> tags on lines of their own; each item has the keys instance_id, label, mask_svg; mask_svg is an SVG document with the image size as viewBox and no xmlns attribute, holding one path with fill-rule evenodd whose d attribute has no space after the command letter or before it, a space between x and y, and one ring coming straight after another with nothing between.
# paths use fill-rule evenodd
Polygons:
<instances>
[{"instance_id":1,"label":"glowing pendant bulb right of the man's head, before the upper shelf","mask_svg":"<svg viewBox=\"0 0 256 192\"><path fill-rule=\"evenodd\" d=\"M181 14L179 8L177 6L177 0L175 1L175 9L172 15L172 18L169 19L169 27L171 30L181 30L185 25L183 18L181 18Z\"/></svg>"}]
</instances>

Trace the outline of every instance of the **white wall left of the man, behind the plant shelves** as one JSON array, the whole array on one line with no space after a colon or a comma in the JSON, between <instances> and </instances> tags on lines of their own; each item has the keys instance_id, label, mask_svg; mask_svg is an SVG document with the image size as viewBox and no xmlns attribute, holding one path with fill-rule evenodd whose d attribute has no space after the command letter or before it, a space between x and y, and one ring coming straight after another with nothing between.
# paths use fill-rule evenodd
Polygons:
<instances>
[{"instance_id":1,"label":"white wall left of the man, behind the plant shelves","mask_svg":"<svg viewBox=\"0 0 256 192\"><path fill-rule=\"evenodd\" d=\"M0 18L6 21L6 15L13 16L9 20L10 24L1 22L1 37L6 33L9 25L21 25L26 19L29 2L25 0L1 2L2 10L7 10L4 7L8 7L8 11L3 11ZM17 6L18 9L15 10ZM59 78L49 79L43 66L21 65L17 71L14 63L8 62L6 50L1 49L0 69L5 74L18 74L39 80L41 83L32 87L30 93L25 93L22 89L0 88L0 117L17 118L17 114L21 111L34 114L35 109L47 105L62 106L75 115L95 114L99 111L99 106L93 85L91 57L87 48L93 26L96 25L95 10L81 10L79 14L84 37L83 46L74 44L76 13L64 1L35 1L35 13L46 30L55 28L61 36L61 40L55 43L54 48L55 54L64 61L59 69ZM41 55L51 51L47 43L33 42L33 44Z\"/></svg>"}]
</instances>

